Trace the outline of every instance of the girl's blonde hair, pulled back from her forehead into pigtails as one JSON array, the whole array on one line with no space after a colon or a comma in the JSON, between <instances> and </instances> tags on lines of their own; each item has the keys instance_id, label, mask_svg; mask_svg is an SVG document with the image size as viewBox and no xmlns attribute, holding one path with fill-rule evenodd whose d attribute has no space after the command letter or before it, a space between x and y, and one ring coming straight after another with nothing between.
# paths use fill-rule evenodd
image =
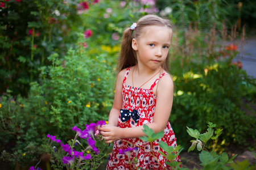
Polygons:
<instances>
[{"instance_id":1,"label":"girl's blonde hair, pulled back from her forehead into pigtails","mask_svg":"<svg viewBox=\"0 0 256 170\"><path fill-rule=\"evenodd\" d=\"M118 60L118 73L131 66L137 65L137 56L134 49L131 46L133 39L139 39L143 35L143 28L148 26L161 26L167 27L172 30L172 24L170 20L160 18L157 15L145 15L137 22L137 27L135 30L126 28L123 32L122 42L121 42L121 52ZM162 67L165 71L168 71L168 59L169 54L167 55L166 61L162 64Z\"/></svg>"}]
</instances>

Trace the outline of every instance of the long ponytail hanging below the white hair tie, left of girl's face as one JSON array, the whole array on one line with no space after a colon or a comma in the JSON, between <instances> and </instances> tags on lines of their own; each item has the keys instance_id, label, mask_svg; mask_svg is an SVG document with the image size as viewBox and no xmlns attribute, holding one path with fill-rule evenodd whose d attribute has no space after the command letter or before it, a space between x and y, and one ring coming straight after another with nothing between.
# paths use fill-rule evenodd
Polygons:
<instances>
[{"instance_id":1,"label":"long ponytail hanging below the white hair tie, left of girl's face","mask_svg":"<svg viewBox=\"0 0 256 170\"><path fill-rule=\"evenodd\" d=\"M123 32L122 42L121 42L121 52L118 60L118 73L131 66L135 66L137 64L137 56L133 47L131 46L131 42L133 41L133 30L130 28L126 28Z\"/></svg>"}]
</instances>

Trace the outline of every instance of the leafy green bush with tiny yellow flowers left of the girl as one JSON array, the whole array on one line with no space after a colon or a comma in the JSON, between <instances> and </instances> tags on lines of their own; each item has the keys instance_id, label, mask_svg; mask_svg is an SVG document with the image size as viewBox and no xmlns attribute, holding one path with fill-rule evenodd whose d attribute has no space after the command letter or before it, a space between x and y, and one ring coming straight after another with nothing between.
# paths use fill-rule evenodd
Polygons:
<instances>
[{"instance_id":1,"label":"leafy green bush with tiny yellow flowers left of the girl","mask_svg":"<svg viewBox=\"0 0 256 170\"><path fill-rule=\"evenodd\" d=\"M40 69L42 85L31 83L27 99L2 97L1 146L9 143L11 147L5 150L21 151L13 160L38 159L39 146L48 133L68 139L74 125L108 120L115 77L113 61L106 57L106 53L88 56L80 49L69 50L63 60L52 54L48 57L52 65Z\"/></svg>"}]
</instances>

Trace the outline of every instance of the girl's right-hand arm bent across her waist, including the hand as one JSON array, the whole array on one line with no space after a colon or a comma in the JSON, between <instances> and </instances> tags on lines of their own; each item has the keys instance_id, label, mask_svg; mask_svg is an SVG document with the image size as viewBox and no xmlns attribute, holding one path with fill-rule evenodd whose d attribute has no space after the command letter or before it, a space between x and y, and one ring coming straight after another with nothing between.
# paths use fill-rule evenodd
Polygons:
<instances>
[{"instance_id":1,"label":"girl's right-hand arm bent across her waist, including the hand","mask_svg":"<svg viewBox=\"0 0 256 170\"><path fill-rule=\"evenodd\" d=\"M155 133L164 130L172 109L172 101L174 96L174 83L170 76L163 76L156 91L156 107L153 122L147 124L149 128L153 129ZM119 111L118 111L119 116ZM145 135L142 131L143 126L134 128L118 128L106 127L100 128L103 138L106 143L111 143L123 138L138 138Z\"/></svg>"}]
</instances>

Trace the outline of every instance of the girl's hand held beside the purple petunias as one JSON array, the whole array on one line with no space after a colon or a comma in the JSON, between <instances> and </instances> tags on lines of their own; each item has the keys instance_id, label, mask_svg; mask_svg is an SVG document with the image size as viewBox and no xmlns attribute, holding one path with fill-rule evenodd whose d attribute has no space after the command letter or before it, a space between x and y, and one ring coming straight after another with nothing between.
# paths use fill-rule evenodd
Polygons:
<instances>
[{"instance_id":1,"label":"girl's hand held beside the purple petunias","mask_svg":"<svg viewBox=\"0 0 256 170\"><path fill-rule=\"evenodd\" d=\"M105 139L105 143L112 143L120 139L119 134L121 128L111 125L103 125L99 130L102 135L102 139Z\"/></svg>"}]
</instances>

